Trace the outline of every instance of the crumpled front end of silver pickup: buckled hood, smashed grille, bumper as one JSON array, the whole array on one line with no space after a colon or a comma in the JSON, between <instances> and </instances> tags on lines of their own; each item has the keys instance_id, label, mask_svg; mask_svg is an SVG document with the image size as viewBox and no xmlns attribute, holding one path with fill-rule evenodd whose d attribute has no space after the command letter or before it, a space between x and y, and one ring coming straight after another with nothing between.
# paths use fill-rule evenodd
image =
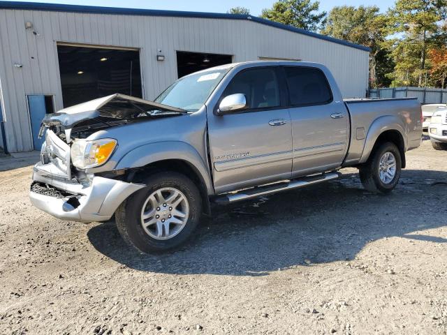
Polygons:
<instances>
[{"instance_id":1,"label":"crumpled front end of silver pickup: buckled hood, smashed grille, bumper","mask_svg":"<svg viewBox=\"0 0 447 335\"><path fill-rule=\"evenodd\" d=\"M41 161L33 170L29 193L31 203L64 220L109 220L117 207L144 185L87 174L86 168L103 164L110 158L117 141L101 139L91 142L85 139L103 128L184 113L175 107L114 94L48 114L42 121L41 135L45 133L45 142ZM94 144L99 147L94 147ZM73 162L80 156L82 159L78 161L88 163L91 153L95 156L93 158L98 156L102 161L98 163L97 158L93 165Z\"/></svg>"}]
</instances>

